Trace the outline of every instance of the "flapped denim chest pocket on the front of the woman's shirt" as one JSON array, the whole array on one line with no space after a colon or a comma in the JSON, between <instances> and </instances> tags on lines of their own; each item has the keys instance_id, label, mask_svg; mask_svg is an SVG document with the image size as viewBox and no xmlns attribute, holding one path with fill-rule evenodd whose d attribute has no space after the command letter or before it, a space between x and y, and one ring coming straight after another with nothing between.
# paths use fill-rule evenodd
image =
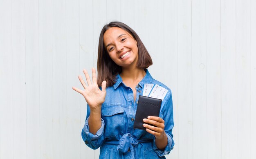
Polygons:
<instances>
[{"instance_id":1,"label":"flapped denim chest pocket on the front of the woman's shirt","mask_svg":"<svg viewBox=\"0 0 256 159\"><path fill-rule=\"evenodd\" d=\"M105 105L101 108L101 118L105 122L105 137L115 137L124 132L124 107Z\"/></svg>"}]
</instances>

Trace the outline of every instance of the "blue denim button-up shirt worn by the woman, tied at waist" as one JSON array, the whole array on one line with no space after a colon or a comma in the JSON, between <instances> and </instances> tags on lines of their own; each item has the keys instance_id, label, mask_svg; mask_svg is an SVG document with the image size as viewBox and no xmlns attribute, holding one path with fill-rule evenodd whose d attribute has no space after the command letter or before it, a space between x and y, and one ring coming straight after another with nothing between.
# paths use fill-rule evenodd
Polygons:
<instances>
[{"instance_id":1,"label":"blue denim button-up shirt worn by the woman, tied at waist","mask_svg":"<svg viewBox=\"0 0 256 159\"><path fill-rule=\"evenodd\" d=\"M145 130L133 128L137 101L142 95L145 83L158 84L168 90L162 101L159 117L165 121L165 132L168 144L164 151L155 144L155 136ZM101 106L101 128L94 135L89 132L88 117L90 107L87 106L87 117L82 130L82 138L92 149L100 148L100 159L165 159L173 149L173 102L171 90L163 83L152 78L146 69L146 76L136 86L137 96L134 101L130 87L117 75L116 83L106 88L105 102Z\"/></svg>"}]
</instances>

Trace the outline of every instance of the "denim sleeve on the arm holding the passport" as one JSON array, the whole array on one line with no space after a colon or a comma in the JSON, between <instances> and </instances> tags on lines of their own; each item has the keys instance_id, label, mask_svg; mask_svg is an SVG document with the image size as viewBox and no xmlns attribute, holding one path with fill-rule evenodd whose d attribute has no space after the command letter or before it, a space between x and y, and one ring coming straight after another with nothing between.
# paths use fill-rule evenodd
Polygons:
<instances>
[{"instance_id":1,"label":"denim sleeve on the arm holding the passport","mask_svg":"<svg viewBox=\"0 0 256 159\"><path fill-rule=\"evenodd\" d=\"M157 153L157 155L159 157L162 157L164 155L167 155L170 153L171 150L173 150L173 146L174 146L174 141L173 141L173 100L172 100L172 95L171 95L171 91L168 94L168 96L166 96L166 103L164 103L164 106L161 110L161 112L163 113L162 118L164 119L164 131L166 133L167 136L167 146L165 147L165 149L159 150L155 144L155 137L153 140L153 150Z\"/></svg>"}]
</instances>

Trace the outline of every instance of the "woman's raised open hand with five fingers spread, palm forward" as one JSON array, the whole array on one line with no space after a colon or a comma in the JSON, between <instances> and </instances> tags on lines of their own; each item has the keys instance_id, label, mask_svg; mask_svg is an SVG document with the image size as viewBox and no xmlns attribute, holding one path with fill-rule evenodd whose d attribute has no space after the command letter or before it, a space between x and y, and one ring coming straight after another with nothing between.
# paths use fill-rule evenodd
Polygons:
<instances>
[{"instance_id":1,"label":"woman's raised open hand with five fingers spread, palm forward","mask_svg":"<svg viewBox=\"0 0 256 159\"><path fill-rule=\"evenodd\" d=\"M96 70L95 68L92 68L92 82L90 80L90 76L88 72L83 69L83 73L85 74L86 81L88 83L88 86L83 81L83 78L79 75L78 78L83 85L84 90L80 90L76 87L72 87L73 90L76 92L79 92L82 94L90 106L90 109L101 109L101 104L105 101L106 97L106 81L103 81L101 84L102 90L99 89L99 86L97 84L97 77L96 77Z\"/></svg>"}]
</instances>

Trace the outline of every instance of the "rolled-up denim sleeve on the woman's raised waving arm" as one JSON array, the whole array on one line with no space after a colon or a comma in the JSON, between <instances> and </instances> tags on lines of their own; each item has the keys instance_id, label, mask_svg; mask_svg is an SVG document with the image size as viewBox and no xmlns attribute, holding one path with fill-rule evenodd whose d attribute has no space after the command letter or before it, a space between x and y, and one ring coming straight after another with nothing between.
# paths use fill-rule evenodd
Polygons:
<instances>
[{"instance_id":1,"label":"rolled-up denim sleeve on the woman's raised waving arm","mask_svg":"<svg viewBox=\"0 0 256 159\"><path fill-rule=\"evenodd\" d=\"M103 119L101 119L101 128L96 132L96 134L92 134L89 131L89 124L88 124L88 117L90 116L90 107L87 105L87 116L85 120L85 125L82 129L82 138L83 141L87 146L89 146L92 149L99 148L103 141L104 141L104 130L105 130L105 123Z\"/></svg>"}]
</instances>

